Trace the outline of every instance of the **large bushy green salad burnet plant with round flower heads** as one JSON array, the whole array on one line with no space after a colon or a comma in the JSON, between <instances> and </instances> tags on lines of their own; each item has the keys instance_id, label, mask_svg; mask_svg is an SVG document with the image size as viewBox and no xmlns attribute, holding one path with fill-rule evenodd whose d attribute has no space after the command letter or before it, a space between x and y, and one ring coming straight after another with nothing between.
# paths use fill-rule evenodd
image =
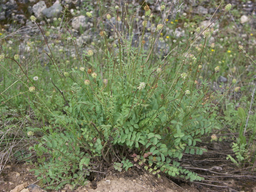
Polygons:
<instances>
[{"instance_id":1,"label":"large bushy green salad burnet plant with round flower heads","mask_svg":"<svg viewBox=\"0 0 256 192\"><path fill-rule=\"evenodd\" d=\"M227 5L225 11L230 8L231 5ZM43 133L30 149L38 156L39 169L34 169L35 174L48 188L84 182L84 172L103 171L101 163L114 165L118 170L127 170L136 164L159 177L162 172L191 181L203 179L182 168L178 160L182 160L183 153L203 154L205 149L197 146L197 142L214 126L208 114L211 98L208 82L220 69L211 67L212 75L199 82L203 49L201 55L189 54L193 45L190 40L203 34L205 43L211 30L207 26L190 34L186 46L178 55L173 55L174 63L172 56L155 63L152 62L154 46L164 24L158 24L145 41L149 6L144 10L142 35L136 47L132 46L132 38L127 39L118 31L118 18L115 25L107 23L103 16L99 18L102 22L99 38L104 45L101 62L95 61L94 55L102 52L84 51L80 70L65 66L61 71L53 53L44 51L59 77L58 80L55 77L55 82L49 80L59 96L45 98L37 91L40 85L31 86L30 106L45 124L27 129ZM118 6L115 11L116 15L120 14ZM107 19L110 18L107 15ZM31 20L36 22L34 16ZM66 26L64 20L61 22ZM114 41L108 39L106 25L113 28ZM133 20L126 30L132 36ZM45 42L48 44L46 38ZM152 46L150 52L144 50L145 43ZM79 57L77 49L76 53ZM30 137L34 137L32 132Z\"/></svg>"}]
</instances>

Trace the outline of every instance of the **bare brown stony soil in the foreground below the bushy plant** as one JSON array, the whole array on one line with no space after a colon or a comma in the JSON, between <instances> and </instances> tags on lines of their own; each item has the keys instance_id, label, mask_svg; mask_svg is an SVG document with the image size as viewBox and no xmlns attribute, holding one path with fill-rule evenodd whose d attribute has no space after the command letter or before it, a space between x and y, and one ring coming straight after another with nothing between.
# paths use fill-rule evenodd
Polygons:
<instances>
[{"instance_id":1,"label":"bare brown stony soil in the foreground below the bushy plant","mask_svg":"<svg viewBox=\"0 0 256 192\"><path fill-rule=\"evenodd\" d=\"M96 179L95 179L96 180ZM88 181L84 186L66 184L60 192L203 192L203 187L182 183L180 186L165 177L157 179L147 173L130 169L128 172L111 172L99 181ZM40 186L39 186L40 185ZM199 188L199 189L198 189ZM2 192L47 192L28 165L5 166L0 176ZM256 188L255 188L256 191ZM253 191L253 192L255 192Z\"/></svg>"}]
</instances>

